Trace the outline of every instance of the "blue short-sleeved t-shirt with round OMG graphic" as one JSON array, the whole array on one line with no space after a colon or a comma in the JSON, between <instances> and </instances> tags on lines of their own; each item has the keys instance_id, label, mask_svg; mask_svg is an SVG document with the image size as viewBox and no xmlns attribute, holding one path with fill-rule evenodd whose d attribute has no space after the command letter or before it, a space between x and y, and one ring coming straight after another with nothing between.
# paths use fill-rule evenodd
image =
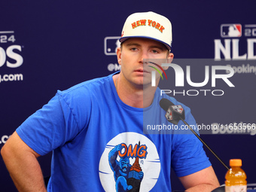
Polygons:
<instances>
[{"instance_id":1,"label":"blue short-sleeved t-shirt with round OMG graphic","mask_svg":"<svg viewBox=\"0 0 256 192\"><path fill-rule=\"evenodd\" d=\"M35 152L53 151L47 191L171 191L171 166L178 177L211 166L190 130L148 134L172 125L160 99L182 105L187 123L196 125L190 108L161 96L158 88L151 106L133 108L120 100L112 76L58 91L18 127Z\"/></svg>"}]
</instances>

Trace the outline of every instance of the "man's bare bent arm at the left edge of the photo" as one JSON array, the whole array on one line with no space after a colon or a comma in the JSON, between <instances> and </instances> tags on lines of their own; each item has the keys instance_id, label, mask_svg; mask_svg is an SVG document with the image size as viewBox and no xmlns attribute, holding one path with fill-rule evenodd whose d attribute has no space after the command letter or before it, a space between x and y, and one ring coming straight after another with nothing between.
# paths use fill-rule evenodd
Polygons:
<instances>
[{"instance_id":1,"label":"man's bare bent arm at the left edge of the photo","mask_svg":"<svg viewBox=\"0 0 256 192\"><path fill-rule=\"evenodd\" d=\"M5 165L19 191L47 191L37 154L16 132L2 147Z\"/></svg>"}]
</instances>

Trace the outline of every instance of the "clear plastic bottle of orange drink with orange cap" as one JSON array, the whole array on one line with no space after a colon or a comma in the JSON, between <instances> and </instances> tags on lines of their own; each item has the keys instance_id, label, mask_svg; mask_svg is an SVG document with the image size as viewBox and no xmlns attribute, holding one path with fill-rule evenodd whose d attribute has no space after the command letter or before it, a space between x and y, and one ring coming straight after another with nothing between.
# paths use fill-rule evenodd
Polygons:
<instances>
[{"instance_id":1,"label":"clear plastic bottle of orange drink with orange cap","mask_svg":"<svg viewBox=\"0 0 256 192\"><path fill-rule=\"evenodd\" d=\"M246 192L247 181L244 170L241 169L242 160L230 160L230 169L226 174L225 192Z\"/></svg>"}]
</instances>

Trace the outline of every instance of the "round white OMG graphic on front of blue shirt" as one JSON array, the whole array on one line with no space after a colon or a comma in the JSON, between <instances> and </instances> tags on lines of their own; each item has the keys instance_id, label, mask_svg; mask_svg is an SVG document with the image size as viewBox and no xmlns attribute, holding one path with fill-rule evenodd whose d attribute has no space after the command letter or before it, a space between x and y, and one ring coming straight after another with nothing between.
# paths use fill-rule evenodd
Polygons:
<instances>
[{"instance_id":1,"label":"round white OMG graphic on front of blue shirt","mask_svg":"<svg viewBox=\"0 0 256 192\"><path fill-rule=\"evenodd\" d=\"M99 178L105 191L149 191L157 183L160 159L150 139L139 133L120 133L105 146Z\"/></svg>"}]
</instances>

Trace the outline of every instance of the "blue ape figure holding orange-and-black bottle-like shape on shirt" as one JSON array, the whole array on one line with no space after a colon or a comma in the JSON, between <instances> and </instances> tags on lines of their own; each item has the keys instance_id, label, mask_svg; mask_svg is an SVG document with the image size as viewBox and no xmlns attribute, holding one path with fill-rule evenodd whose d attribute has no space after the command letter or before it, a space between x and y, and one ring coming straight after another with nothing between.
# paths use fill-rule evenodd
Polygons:
<instances>
[{"instance_id":1,"label":"blue ape figure holding orange-and-black bottle-like shape on shirt","mask_svg":"<svg viewBox=\"0 0 256 192\"><path fill-rule=\"evenodd\" d=\"M108 154L108 163L114 172L116 191L139 192L140 183L144 175L139 166L139 157L136 157L136 162L132 166L129 159L130 155L128 154L127 157L127 154L121 154L123 146L126 145L120 144L115 146ZM139 148L138 145L135 148ZM117 160L118 155L120 157L119 161Z\"/></svg>"}]
</instances>

